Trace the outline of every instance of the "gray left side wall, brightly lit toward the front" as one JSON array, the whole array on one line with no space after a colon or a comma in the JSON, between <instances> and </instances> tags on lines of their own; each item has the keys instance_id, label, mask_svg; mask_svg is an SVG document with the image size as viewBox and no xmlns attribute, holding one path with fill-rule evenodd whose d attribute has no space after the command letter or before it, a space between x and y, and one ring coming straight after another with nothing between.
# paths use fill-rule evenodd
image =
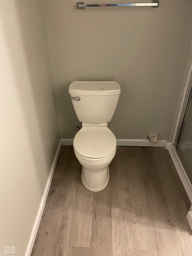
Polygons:
<instances>
[{"instance_id":1,"label":"gray left side wall, brightly lit toward the front","mask_svg":"<svg viewBox=\"0 0 192 256\"><path fill-rule=\"evenodd\" d=\"M0 35L0 255L24 256L60 140L42 1L0 0Z\"/></svg>"}]
</instances>

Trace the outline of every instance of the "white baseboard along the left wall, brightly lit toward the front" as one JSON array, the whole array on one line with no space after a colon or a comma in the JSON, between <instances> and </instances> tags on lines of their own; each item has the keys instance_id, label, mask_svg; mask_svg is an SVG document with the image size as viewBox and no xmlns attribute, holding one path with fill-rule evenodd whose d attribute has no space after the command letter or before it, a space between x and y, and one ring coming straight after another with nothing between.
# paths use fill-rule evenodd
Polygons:
<instances>
[{"instance_id":1,"label":"white baseboard along the left wall, brightly lit toward the front","mask_svg":"<svg viewBox=\"0 0 192 256\"><path fill-rule=\"evenodd\" d=\"M32 229L32 233L31 233L31 236L30 236L30 239L29 239L29 243L28 243L28 246L27 246L27 249L26 249L25 256L30 256L31 252L32 252L32 248L33 248L33 245L34 245L34 242L35 242L35 237L37 235L38 227L39 227L39 224L40 224L40 221L41 221L41 216L43 214L43 210L44 210L44 207L45 207L47 195L49 193L49 188L50 188L50 185L51 185L51 182L52 182L53 174L55 172L55 167L56 167L56 164L57 164L57 161L58 161L58 157L59 157L59 154L60 154L60 151L61 151L61 147L62 147L62 143L61 143L61 140L60 140L58 148L57 148L57 152L55 154L55 158L53 160L51 171L50 171L49 177L47 179L44 194L43 194L43 197L41 199L41 203L40 203L40 206L39 206L39 209L38 209L38 212L37 212L37 216L35 218L35 223L34 223L34 226L33 226L33 229Z\"/></svg>"}]
</instances>

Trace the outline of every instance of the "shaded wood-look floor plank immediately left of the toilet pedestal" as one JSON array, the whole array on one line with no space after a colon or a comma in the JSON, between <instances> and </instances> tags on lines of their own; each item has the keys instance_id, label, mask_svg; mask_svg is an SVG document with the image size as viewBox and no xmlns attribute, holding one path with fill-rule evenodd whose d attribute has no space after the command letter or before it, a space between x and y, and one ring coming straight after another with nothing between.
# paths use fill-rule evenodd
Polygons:
<instances>
[{"instance_id":1,"label":"shaded wood-look floor plank immediately left of the toilet pedestal","mask_svg":"<svg viewBox=\"0 0 192 256\"><path fill-rule=\"evenodd\" d=\"M81 165L74 154L73 147L71 146L64 170L64 178L60 179L58 183L59 195L56 206L74 206L78 183L81 183L81 181L79 181L80 170Z\"/></svg>"}]
</instances>

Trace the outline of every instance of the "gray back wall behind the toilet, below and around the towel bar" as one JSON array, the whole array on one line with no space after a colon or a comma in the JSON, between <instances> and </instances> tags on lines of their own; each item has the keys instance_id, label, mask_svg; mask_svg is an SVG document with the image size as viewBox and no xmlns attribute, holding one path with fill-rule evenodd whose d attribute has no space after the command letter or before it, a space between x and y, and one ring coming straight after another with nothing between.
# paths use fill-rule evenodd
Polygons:
<instances>
[{"instance_id":1,"label":"gray back wall behind the toilet, below and around the towel bar","mask_svg":"<svg viewBox=\"0 0 192 256\"><path fill-rule=\"evenodd\" d=\"M79 125L69 84L115 80L122 93L108 127L116 138L146 139L157 131L167 139L190 41L192 1L76 10L74 0L46 0L44 10L61 137L73 138Z\"/></svg>"}]
</instances>

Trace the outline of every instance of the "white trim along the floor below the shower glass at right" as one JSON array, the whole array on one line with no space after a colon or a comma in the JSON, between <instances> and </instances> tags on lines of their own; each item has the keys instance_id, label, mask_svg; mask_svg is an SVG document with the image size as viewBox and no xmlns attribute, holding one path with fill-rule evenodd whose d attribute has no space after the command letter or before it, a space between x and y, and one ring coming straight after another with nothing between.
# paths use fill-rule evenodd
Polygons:
<instances>
[{"instance_id":1,"label":"white trim along the floor below the shower glass at right","mask_svg":"<svg viewBox=\"0 0 192 256\"><path fill-rule=\"evenodd\" d=\"M184 189L187 192L189 200L192 203L192 184L187 176L187 173L185 172L185 169L173 145L171 146L171 149L169 149L169 153L179 174L179 177L183 183Z\"/></svg>"}]
</instances>

